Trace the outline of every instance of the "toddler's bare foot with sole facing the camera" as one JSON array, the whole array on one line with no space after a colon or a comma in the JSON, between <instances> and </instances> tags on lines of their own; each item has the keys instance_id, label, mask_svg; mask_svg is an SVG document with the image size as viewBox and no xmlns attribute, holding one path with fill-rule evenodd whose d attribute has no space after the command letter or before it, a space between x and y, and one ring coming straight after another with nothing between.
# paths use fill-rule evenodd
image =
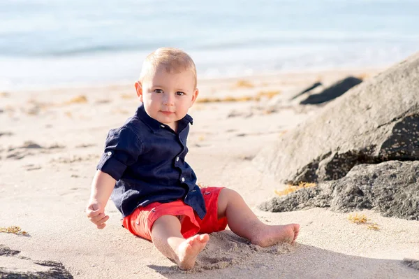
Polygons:
<instances>
[{"instance_id":1,"label":"toddler's bare foot with sole facing the camera","mask_svg":"<svg viewBox=\"0 0 419 279\"><path fill-rule=\"evenodd\" d=\"M177 248L177 258L179 259L177 265L179 268L184 270L193 269L196 257L205 248L209 240L210 236L208 234L197 234L180 243Z\"/></svg>"}]
</instances>

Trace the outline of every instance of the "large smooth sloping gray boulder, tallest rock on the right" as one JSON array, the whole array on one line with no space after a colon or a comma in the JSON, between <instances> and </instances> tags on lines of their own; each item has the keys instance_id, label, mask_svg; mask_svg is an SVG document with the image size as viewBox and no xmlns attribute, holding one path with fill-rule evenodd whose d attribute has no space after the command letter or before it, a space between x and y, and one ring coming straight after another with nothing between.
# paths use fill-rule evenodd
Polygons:
<instances>
[{"instance_id":1,"label":"large smooth sloping gray boulder, tallest rock on the right","mask_svg":"<svg viewBox=\"0 0 419 279\"><path fill-rule=\"evenodd\" d=\"M253 162L281 183L342 178L357 164L419 159L419 52L328 103Z\"/></svg>"}]
</instances>

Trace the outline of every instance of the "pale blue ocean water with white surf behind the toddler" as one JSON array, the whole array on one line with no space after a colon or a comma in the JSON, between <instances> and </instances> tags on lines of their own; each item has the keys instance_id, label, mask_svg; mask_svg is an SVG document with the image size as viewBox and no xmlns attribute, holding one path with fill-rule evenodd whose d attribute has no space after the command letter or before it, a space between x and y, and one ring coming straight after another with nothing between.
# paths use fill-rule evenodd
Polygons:
<instances>
[{"instance_id":1,"label":"pale blue ocean water with white surf behind the toddler","mask_svg":"<svg viewBox=\"0 0 419 279\"><path fill-rule=\"evenodd\" d=\"M0 0L0 90L133 82L161 46L200 78L388 66L419 50L419 1Z\"/></svg>"}]
</instances>

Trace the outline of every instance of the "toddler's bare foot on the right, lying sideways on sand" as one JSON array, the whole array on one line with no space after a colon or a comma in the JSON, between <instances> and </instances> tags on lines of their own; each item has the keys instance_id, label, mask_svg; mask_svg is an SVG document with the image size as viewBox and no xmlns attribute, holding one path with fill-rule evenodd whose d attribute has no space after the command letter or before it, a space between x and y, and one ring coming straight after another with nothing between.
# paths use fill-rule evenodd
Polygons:
<instances>
[{"instance_id":1,"label":"toddler's bare foot on the right, lying sideways on sand","mask_svg":"<svg viewBox=\"0 0 419 279\"><path fill-rule=\"evenodd\" d=\"M251 239L251 243L261 247L272 246L280 242L294 243L299 232L299 224L277 226L264 225L263 229L260 229L257 236Z\"/></svg>"}]
</instances>

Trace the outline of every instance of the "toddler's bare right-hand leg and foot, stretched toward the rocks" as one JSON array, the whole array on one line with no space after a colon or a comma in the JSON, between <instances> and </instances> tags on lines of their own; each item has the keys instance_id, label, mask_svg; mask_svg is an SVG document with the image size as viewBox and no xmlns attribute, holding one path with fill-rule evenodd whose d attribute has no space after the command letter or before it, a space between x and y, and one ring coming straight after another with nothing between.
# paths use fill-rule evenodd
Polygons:
<instances>
[{"instance_id":1,"label":"toddler's bare right-hand leg and foot, stretched toward the rocks","mask_svg":"<svg viewBox=\"0 0 419 279\"><path fill-rule=\"evenodd\" d=\"M232 189L221 190L218 200L218 217L227 217L228 227L251 243L262 247L280 242L294 243L300 231L299 224L263 224L244 202L242 196Z\"/></svg>"}]
</instances>

